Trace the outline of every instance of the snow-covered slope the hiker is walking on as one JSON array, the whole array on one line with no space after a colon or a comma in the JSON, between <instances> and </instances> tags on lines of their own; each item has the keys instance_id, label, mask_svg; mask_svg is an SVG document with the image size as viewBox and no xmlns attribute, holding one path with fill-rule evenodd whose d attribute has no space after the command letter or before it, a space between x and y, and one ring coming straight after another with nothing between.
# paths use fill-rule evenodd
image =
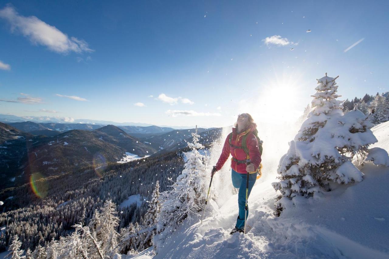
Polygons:
<instances>
[{"instance_id":1,"label":"snow-covered slope the hiker is walking on","mask_svg":"<svg viewBox=\"0 0 389 259\"><path fill-rule=\"evenodd\" d=\"M378 142L371 147L389 151L389 122L372 130ZM247 222L252 229L247 235L229 235L238 212L237 194L220 195L207 205L201 226L197 218L186 220L157 255L148 249L138 257L389 258L389 168L369 162L359 167L365 174L361 183L334 186L315 200L296 200L280 217L274 215L278 194L271 186L276 168L270 164L264 168L265 177L249 198ZM230 180L228 170L220 173L224 175L215 179L214 191L221 189L222 179Z\"/></svg>"}]
</instances>

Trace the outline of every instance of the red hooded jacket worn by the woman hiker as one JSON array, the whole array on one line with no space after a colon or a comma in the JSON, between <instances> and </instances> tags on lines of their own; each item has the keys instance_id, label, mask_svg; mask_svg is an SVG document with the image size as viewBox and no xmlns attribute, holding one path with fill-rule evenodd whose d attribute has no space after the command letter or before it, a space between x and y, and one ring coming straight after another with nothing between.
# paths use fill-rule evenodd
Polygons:
<instances>
[{"instance_id":1,"label":"red hooded jacket worn by the woman hiker","mask_svg":"<svg viewBox=\"0 0 389 259\"><path fill-rule=\"evenodd\" d=\"M259 164L261 163L261 154L259 153L259 149L258 149L258 140L255 137L254 133L252 133L256 128L257 125L255 123L252 123L246 128L245 131L243 131L240 134L237 133L237 128L232 128L232 139L231 139L232 145L241 147L242 137L246 135L247 132L249 132L246 138L246 145L247 148L249 149L249 156L250 156L251 163L254 164L254 171L257 170ZM229 137L230 134L227 136L226 141L224 142L223 151L221 152L220 158L216 163L217 171L219 171L223 167L224 163L226 163L230 154L232 155L233 158L238 160L247 159L247 155L243 149L230 146ZM238 173L247 174L246 164L244 163L237 163L237 161L231 159L231 168Z\"/></svg>"}]
</instances>

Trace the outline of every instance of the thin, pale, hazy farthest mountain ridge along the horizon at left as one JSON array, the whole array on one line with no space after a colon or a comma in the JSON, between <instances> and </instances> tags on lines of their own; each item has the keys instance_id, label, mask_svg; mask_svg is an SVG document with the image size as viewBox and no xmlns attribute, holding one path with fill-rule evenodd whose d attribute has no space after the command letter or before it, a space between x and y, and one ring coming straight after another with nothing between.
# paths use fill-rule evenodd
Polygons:
<instances>
[{"instance_id":1,"label":"thin, pale, hazy farthest mountain ridge along the horizon at left","mask_svg":"<svg viewBox=\"0 0 389 259\"><path fill-rule=\"evenodd\" d=\"M153 124L148 123L139 123L139 122L114 122L114 121L100 121L100 120L91 120L91 119L75 119L72 121L63 121L63 119L60 119L58 117L50 117L50 116L15 116L11 114L0 114L0 122L5 123L11 123L11 122L25 122L25 121L32 121L37 123L42 122L51 122L51 123L65 123L65 124L98 124L98 125L115 125L115 126L142 126L142 127L148 127L148 126L154 126ZM161 125L159 126L161 128L173 128L173 129L190 129L195 128L194 126L165 126Z\"/></svg>"}]
</instances>

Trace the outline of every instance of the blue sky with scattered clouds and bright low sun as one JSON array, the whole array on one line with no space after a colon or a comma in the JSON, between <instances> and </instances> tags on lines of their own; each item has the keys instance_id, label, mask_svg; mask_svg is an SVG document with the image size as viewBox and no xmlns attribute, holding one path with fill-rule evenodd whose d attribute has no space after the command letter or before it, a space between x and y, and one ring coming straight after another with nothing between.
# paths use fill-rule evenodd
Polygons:
<instances>
[{"instance_id":1,"label":"blue sky with scattered clouds and bright low sun","mask_svg":"<svg viewBox=\"0 0 389 259\"><path fill-rule=\"evenodd\" d=\"M340 99L388 91L388 11L388 1L2 2L0 113L293 120L325 72L340 76Z\"/></svg>"}]
</instances>

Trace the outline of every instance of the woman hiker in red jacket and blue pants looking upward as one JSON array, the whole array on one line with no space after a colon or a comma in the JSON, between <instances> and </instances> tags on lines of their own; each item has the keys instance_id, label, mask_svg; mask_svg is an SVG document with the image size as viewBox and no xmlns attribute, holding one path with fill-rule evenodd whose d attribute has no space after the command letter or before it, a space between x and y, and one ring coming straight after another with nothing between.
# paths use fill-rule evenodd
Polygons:
<instances>
[{"instance_id":1,"label":"woman hiker in red jacket and blue pants looking upward","mask_svg":"<svg viewBox=\"0 0 389 259\"><path fill-rule=\"evenodd\" d=\"M235 232L244 232L245 216L247 219L249 214L249 210L245 210L247 173L249 173L248 194L250 195L251 189L257 179L257 168L261 163L258 139L254 135L256 128L257 125L254 123L254 120L250 114L239 114L237 122L232 128L232 133L227 136L226 141L224 142L223 151L215 166L216 171L219 171L223 167L224 163L226 163L230 154L232 155L231 177L233 186L235 188L239 188L239 215L237 218L237 224L235 224L235 228L231 231L230 234ZM245 140L247 148L243 147L242 140ZM247 151L245 151L247 149L248 154L246 154Z\"/></svg>"}]
</instances>

